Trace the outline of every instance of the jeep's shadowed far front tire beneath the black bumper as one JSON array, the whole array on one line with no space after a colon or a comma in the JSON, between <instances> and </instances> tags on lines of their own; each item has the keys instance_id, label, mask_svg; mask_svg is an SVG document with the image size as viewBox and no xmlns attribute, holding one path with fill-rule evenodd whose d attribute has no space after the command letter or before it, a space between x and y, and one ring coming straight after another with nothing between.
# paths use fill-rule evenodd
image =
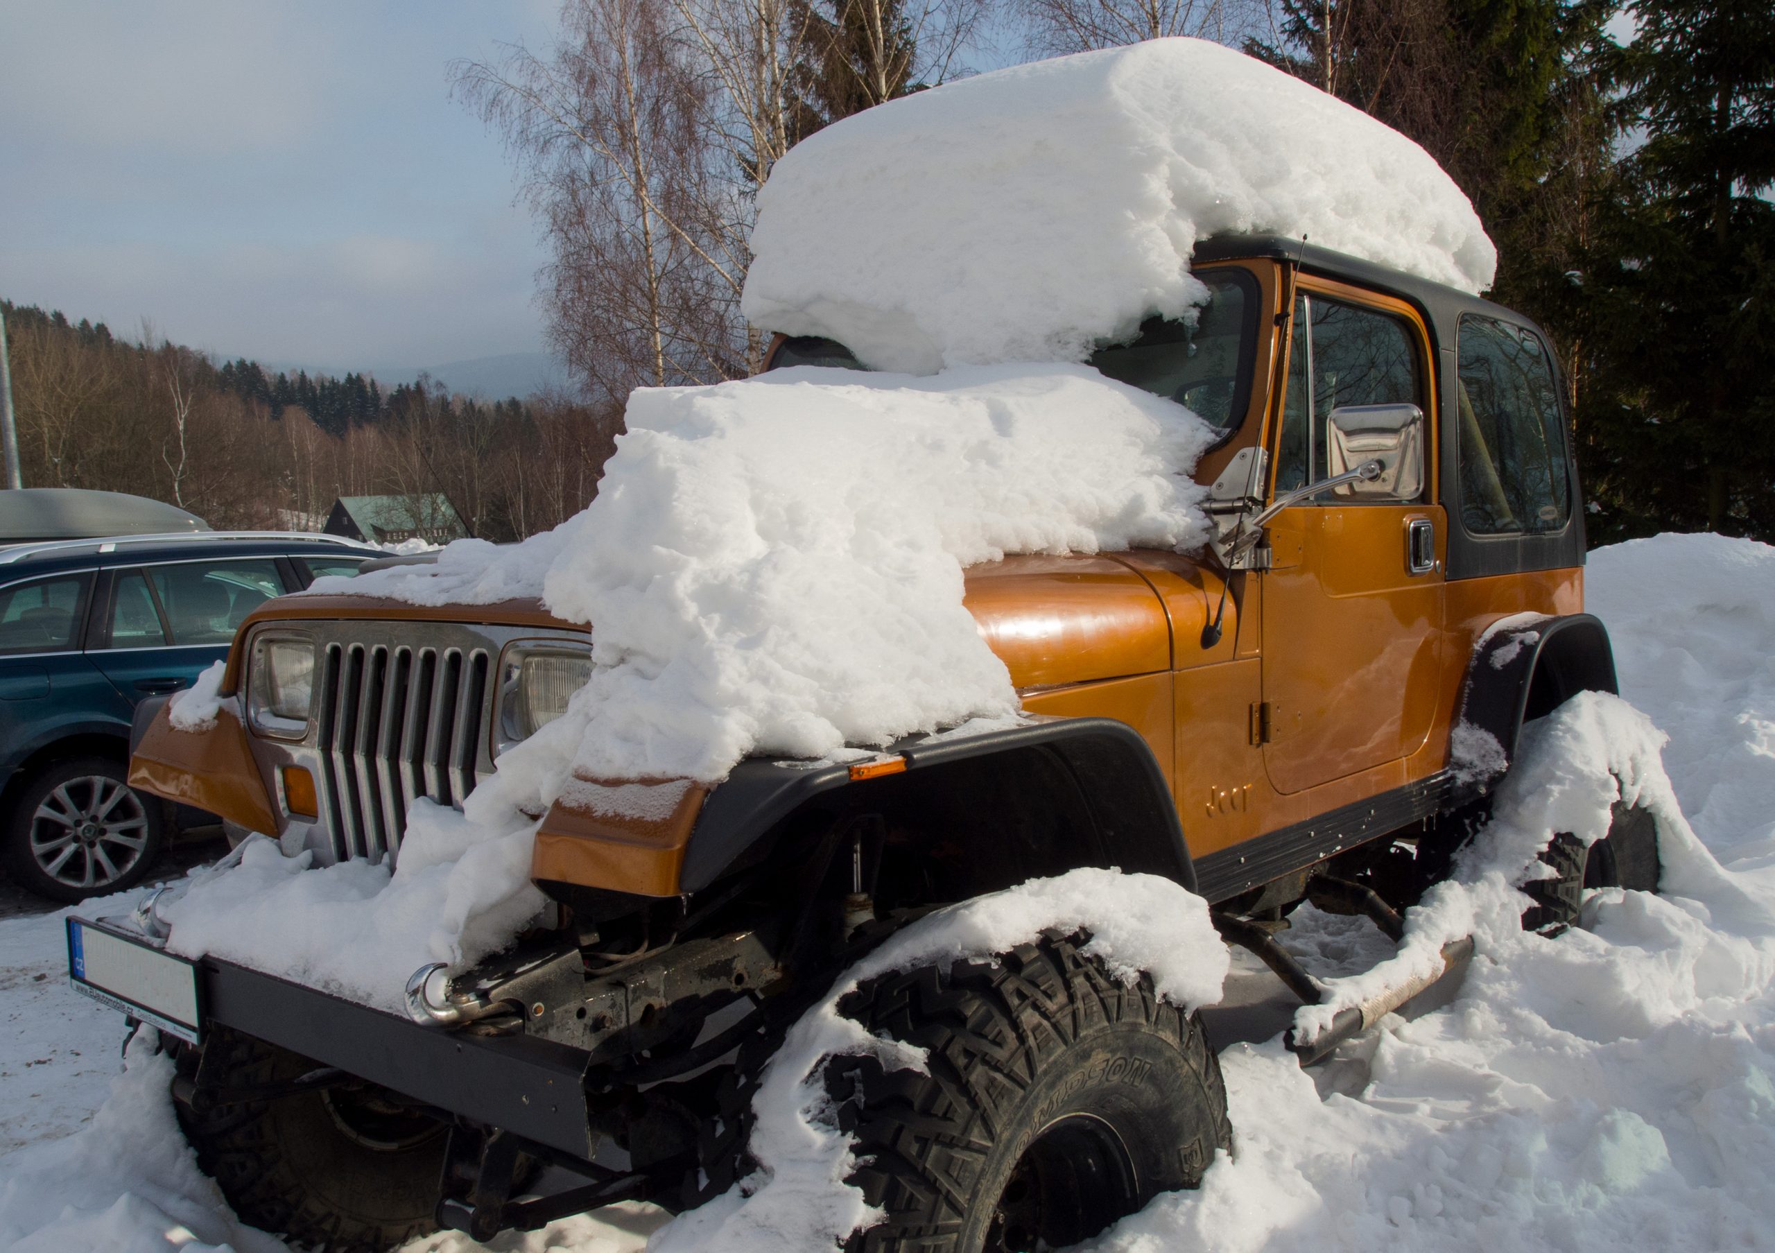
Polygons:
<instances>
[{"instance_id":1,"label":"jeep's shadowed far front tire beneath the black bumper","mask_svg":"<svg viewBox=\"0 0 1775 1253\"><path fill-rule=\"evenodd\" d=\"M288 1083L318 1068L225 1029L213 1029L204 1047L206 1084ZM174 1107L197 1164L252 1226L327 1253L383 1253L435 1232L444 1125L406 1147L371 1148L341 1127L337 1106L328 1106L339 1099L311 1091L213 1113Z\"/></svg>"}]
</instances>

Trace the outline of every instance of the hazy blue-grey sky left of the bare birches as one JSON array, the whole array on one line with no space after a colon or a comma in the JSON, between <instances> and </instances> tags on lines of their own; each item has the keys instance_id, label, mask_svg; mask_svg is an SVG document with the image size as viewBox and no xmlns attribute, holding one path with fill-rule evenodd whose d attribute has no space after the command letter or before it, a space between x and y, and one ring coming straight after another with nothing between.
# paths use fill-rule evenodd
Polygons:
<instances>
[{"instance_id":1,"label":"hazy blue-grey sky left of the bare birches","mask_svg":"<svg viewBox=\"0 0 1775 1253\"><path fill-rule=\"evenodd\" d=\"M543 351L545 252L453 59L556 0L0 0L0 296L328 371Z\"/></svg>"}]
</instances>

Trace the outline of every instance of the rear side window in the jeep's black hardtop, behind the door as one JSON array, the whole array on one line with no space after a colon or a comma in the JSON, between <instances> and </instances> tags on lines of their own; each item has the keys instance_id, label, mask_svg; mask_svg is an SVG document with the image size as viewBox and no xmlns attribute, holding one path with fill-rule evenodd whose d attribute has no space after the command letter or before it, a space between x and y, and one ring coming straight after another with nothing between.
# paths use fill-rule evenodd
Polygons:
<instances>
[{"instance_id":1,"label":"rear side window in the jeep's black hardtop, behind the door","mask_svg":"<svg viewBox=\"0 0 1775 1253\"><path fill-rule=\"evenodd\" d=\"M1473 534L1558 531L1571 516L1566 419L1541 339L1461 318L1461 520Z\"/></svg>"}]
</instances>

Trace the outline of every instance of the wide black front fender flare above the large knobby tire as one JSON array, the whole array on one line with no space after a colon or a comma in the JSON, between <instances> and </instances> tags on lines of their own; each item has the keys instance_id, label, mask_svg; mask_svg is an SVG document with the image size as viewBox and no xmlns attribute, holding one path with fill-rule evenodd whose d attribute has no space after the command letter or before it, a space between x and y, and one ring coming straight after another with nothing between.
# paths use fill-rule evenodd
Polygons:
<instances>
[{"instance_id":1,"label":"wide black front fender flare above the large knobby tire","mask_svg":"<svg viewBox=\"0 0 1775 1253\"><path fill-rule=\"evenodd\" d=\"M1196 889L1177 806L1147 740L1116 719L1040 717L1012 728L978 733L962 728L902 740L872 761L902 758L905 768L880 777L852 777L859 763L742 761L710 792L698 815L683 854L680 891L701 891L730 870L753 863L767 852L767 836L815 799L834 808L870 808L872 788L943 786L944 767L1008 761L1015 754L1024 760L1037 754L1044 768L1070 774L1095 827L1095 839L1081 841L1081 850L1108 854L1106 859L1085 852L1079 864L1115 864Z\"/></svg>"}]
</instances>

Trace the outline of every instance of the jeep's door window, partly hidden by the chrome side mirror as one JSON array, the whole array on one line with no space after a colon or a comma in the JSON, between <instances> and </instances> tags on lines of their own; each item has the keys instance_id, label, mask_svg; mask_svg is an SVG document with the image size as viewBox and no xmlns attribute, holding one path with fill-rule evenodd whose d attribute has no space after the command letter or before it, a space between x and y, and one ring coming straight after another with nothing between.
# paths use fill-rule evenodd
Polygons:
<instances>
[{"instance_id":1,"label":"jeep's door window, partly hidden by the chrome side mirror","mask_svg":"<svg viewBox=\"0 0 1775 1253\"><path fill-rule=\"evenodd\" d=\"M1294 302L1276 492L1329 477L1326 426L1344 405L1424 405L1409 325L1312 293Z\"/></svg>"}]
</instances>

